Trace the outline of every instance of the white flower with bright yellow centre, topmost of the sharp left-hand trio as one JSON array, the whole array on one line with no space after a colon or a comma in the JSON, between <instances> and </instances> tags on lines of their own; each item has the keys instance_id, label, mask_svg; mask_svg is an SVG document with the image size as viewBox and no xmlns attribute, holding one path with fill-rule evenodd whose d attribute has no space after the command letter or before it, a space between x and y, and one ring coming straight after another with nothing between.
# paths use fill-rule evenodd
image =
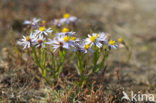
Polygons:
<instances>
[{"instance_id":1,"label":"white flower with bright yellow centre, topmost of the sharp left-hand trio","mask_svg":"<svg viewBox=\"0 0 156 103\"><path fill-rule=\"evenodd\" d=\"M46 29L45 26L40 27L38 30L35 30L35 34L48 36L48 33L52 33L53 30L51 28Z\"/></svg>"}]
</instances>

